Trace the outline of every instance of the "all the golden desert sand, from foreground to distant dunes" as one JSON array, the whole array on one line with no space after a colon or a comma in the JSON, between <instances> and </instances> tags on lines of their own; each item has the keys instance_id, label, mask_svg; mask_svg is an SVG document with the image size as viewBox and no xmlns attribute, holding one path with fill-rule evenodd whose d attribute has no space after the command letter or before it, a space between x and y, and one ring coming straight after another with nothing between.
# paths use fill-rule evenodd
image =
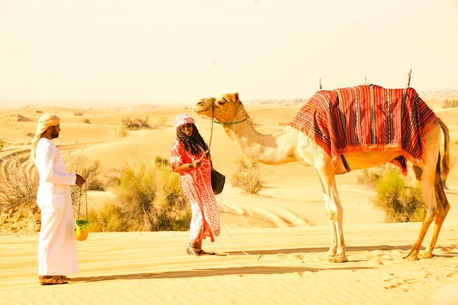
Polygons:
<instances>
[{"instance_id":1,"label":"all the golden desert sand, from foreground to distant dunes","mask_svg":"<svg viewBox=\"0 0 458 305\"><path fill-rule=\"evenodd\" d=\"M99 160L108 175L126 164L168 158L175 140L173 120L181 112L196 118L208 141L210 121L195 116L192 106L1 109L0 137L8 142L0 151L1 171L8 170L12 159L27 156L41 111L62 119L55 140L61 150ZM245 106L261 133L281 129L301 107ZM361 172L355 171L336 177L348 263L329 263L324 255L329 224L314 168L260 165L266 188L246 195L231 185L242 152L216 125L212 157L228 180L217 197L221 234L214 243L204 241L203 248L217 255L187 255L188 232L90 233L86 241L77 242L80 271L68 275L71 282L43 287L37 274L38 233L0 233L1 304L458 304L458 172L453 166L458 108L430 106L450 129L452 162L446 190L452 207L433 258L403 259L420 223L386 223L372 202L374 191L357 183ZM17 120L18 114L27 120ZM149 117L153 129L116 137L114 124L127 116ZM161 118L166 124L155 126ZM89 209L109 198L109 191L90 192Z\"/></svg>"}]
</instances>

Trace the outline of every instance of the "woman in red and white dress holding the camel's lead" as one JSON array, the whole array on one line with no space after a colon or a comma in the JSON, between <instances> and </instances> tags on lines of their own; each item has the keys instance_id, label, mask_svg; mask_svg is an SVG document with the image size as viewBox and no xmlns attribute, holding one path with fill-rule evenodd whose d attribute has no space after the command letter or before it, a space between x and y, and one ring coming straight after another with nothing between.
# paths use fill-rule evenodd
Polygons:
<instances>
[{"instance_id":1,"label":"woman in red and white dress holding the camel's lead","mask_svg":"<svg viewBox=\"0 0 458 305\"><path fill-rule=\"evenodd\" d=\"M177 140L170 151L170 163L173 171L180 174L181 189L192 209L186 252L192 256L212 255L215 253L202 250L205 237L213 242L220 234L220 213L212 189L208 147L190 116L179 114L175 118L175 129Z\"/></svg>"}]
</instances>

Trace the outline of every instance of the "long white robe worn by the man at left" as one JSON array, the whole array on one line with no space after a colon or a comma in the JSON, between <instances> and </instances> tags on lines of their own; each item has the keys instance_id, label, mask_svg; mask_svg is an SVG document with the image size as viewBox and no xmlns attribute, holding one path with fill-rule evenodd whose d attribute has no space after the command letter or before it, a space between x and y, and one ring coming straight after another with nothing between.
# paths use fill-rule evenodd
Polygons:
<instances>
[{"instance_id":1,"label":"long white robe worn by the man at left","mask_svg":"<svg viewBox=\"0 0 458 305\"><path fill-rule=\"evenodd\" d=\"M41 210L38 242L38 275L67 275L78 271L75 225L68 174L54 142L44 137L36 147L35 165L40 175L36 201Z\"/></svg>"}]
</instances>

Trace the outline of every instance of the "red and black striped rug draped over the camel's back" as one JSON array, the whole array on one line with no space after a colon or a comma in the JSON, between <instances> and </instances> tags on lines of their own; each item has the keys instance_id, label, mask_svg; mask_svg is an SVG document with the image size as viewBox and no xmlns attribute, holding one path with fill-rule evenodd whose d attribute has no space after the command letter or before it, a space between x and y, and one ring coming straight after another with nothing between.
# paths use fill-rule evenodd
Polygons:
<instances>
[{"instance_id":1,"label":"red and black striped rug draped over the camel's back","mask_svg":"<svg viewBox=\"0 0 458 305\"><path fill-rule=\"evenodd\" d=\"M424 135L438 120L413 88L359 85L316 92L290 126L314 138L334 168L346 152L399 150L391 162L406 174L406 159L423 162Z\"/></svg>"}]
</instances>

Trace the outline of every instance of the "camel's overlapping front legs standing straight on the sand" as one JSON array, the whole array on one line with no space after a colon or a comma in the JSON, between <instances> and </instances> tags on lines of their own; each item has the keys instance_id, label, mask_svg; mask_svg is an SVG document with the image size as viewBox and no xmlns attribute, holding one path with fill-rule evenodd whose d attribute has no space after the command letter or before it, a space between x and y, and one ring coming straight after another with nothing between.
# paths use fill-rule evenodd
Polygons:
<instances>
[{"instance_id":1,"label":"camel's overlapping front legs standing straight on the sand","mask_svg":"<svg viewBox=\"0 0 458 305\"><path fill-rule=\"evenodd\" d=\"M342 228L343 210L335 186L334 171L331 164L316 167L320 176L323 194L325 196L326 213L331 227L331 247L328 254L333 254L329 261L333 263L345 263L348 259L345 256L344 231Z\"/></svg>"}]
</instances>

